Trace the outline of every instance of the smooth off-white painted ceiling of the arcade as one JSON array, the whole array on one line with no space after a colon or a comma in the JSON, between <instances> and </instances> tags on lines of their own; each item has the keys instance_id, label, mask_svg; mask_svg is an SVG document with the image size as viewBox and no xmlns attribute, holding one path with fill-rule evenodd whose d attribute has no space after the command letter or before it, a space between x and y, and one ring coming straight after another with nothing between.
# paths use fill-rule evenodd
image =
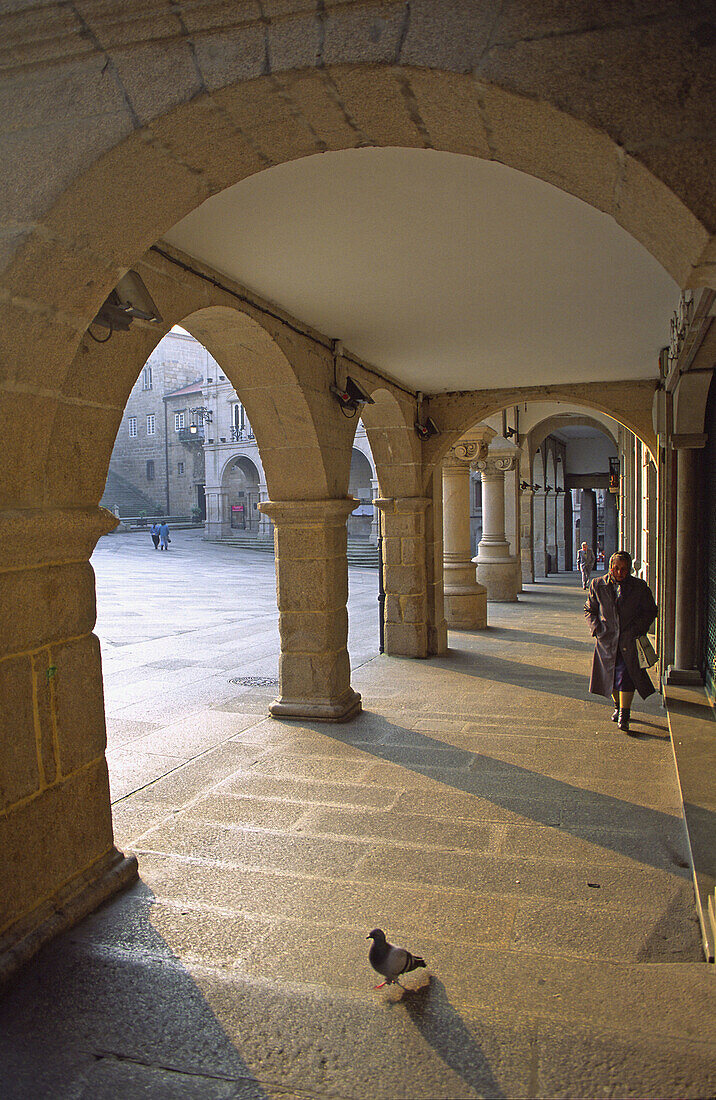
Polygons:
<instances>
[{"instance_id":1,"label":"smooth off-white painted ceiling of the arcade","mask_svg":"<svg viewBox=\"0 0 716 1100\"><path fill-rule=\"evenodd\" d=\"M679 297L607 215L426 150L268 168L166 240L427 393L656 376Z\"/></svg>"}]
</instances>

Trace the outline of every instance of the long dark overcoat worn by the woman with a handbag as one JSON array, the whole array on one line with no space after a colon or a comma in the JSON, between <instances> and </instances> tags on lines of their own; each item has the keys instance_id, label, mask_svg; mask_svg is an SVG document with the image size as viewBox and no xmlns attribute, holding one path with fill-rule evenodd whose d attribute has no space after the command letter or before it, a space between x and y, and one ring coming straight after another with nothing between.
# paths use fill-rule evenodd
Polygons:
<instances>
[{"instance_id":1,"label":"long dark overcoat worn by the woman with a handbag","mask_svg":"<svg viewBox=\"0 0 716 1100\"><path fill-rule=\"evenodd\" d=\"M584 605L584 615L592 637L596 639L590 691L595 695L610 695L614 690L614 666L621 650L624 662L642 698L653 693L653 684L646 669L639 668L637 638L646 634L657 617L657 605L651 588L638 576L627 576L621 585L617 604L617 588L609 574L595 576Z\"/></svg>"}]
</instances>

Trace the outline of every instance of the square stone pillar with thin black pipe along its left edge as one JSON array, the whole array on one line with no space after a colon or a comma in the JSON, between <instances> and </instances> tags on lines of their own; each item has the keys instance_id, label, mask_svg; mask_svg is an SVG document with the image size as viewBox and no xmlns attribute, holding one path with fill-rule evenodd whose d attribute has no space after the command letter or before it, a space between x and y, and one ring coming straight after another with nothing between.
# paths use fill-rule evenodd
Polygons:
<instances>
[{"instance_id":1,"label":"square stone pillar with thin black pipe along its left edge","mask_svg":"<svg viewBox=\"0 0 716 1100\"><path fill-rule=\"evenodd\" d=\"M438 483L439 485L440 483ZM447 649L437 576L433 496L378 497L383 513L384 647L390 657L429 657Z\"/></svg>"}]
</instances>

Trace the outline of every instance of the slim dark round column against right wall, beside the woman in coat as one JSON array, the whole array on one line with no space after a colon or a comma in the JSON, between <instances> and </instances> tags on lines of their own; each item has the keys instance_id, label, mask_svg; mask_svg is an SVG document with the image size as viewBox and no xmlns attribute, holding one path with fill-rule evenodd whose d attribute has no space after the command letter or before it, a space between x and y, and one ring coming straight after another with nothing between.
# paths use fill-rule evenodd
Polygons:
<instances>
[{"instance_id":1,"label":"slim dark round column against right wall, beside the woman in coat","mask_svg":"<svg viewBox=\"0 0 716 1100\"><path fill-rule=\"evenodd\" d=\"M669 671L670 683L701 683L696 669L696 591L698 568L696 492L696 451L680 448L678 454L676 492L676 612L674 663Z\"/></svg>"}]
</instances>

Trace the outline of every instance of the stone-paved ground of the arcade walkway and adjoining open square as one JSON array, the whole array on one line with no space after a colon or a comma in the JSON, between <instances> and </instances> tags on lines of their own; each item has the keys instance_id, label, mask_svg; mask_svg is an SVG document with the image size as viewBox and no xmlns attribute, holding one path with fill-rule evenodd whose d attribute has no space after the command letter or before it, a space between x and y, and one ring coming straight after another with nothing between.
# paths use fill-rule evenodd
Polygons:
<instances>
[{"instance_id":1,"label":"stone-paved ground of the arcade walkway and adjoining open square","mask_svg":"<svg viewBox=\"0 0 716 1100\"><path fill-rule=\"evenodd\" d=\"M365 713L296 725L230 682L275 675L273 562L173 538L93 558L142 880L0 1001L3 1096L713 1094L665 718L637 705L627 738L587 695L575 581L416 662L375 656L375 573L352 571ZM372 990L376 925L429 963L405 993Z\"/></svg>"}]
</instances>

